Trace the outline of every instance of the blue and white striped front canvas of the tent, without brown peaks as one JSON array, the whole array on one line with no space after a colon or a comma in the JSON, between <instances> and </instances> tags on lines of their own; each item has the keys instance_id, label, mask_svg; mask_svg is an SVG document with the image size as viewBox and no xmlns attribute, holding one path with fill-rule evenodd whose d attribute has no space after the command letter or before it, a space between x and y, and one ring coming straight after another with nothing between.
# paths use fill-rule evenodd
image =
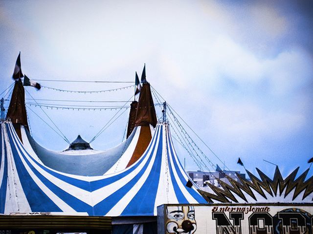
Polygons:
<instances>
[{"instance_id":1,"label":"blue and white striped front canvas of the tent, without brown peaks","mask_svg":"<svg viewBox=\"0 0 313 234\"><path fill-rule=\"evenodd\" d=\"M23 128L23 127L22 127ZM161 204L206 203L179 163L169 125L158 123L150 145L131 167L81 176L46 167L27 150L12 123L1 123L0 213L96 216L156 215Z\"/></svg>"}]
</instances>

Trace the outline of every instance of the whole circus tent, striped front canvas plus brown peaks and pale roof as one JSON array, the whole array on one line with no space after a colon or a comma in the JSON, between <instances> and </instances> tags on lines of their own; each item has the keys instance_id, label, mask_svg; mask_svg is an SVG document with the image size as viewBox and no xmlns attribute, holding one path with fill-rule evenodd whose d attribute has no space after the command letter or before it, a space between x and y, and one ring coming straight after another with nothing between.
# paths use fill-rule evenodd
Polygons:
<instances>
[{"instance_id":1,"label":"whole circus tent, striped front canvas plus brown peaks and pale roof","mask_svg":"<svg viewBox=\"0 0 313 234\"><path fill-rule=\"evenodd\" d=\"M162 204L206 203L190 186L168 122L157 122L148 82L131 105L127 139L102 152L80 136L62 152L40 146L28 131L24 100L19 79L1 122L0 213L156 216Z\"/></svg>"}]
</instances>

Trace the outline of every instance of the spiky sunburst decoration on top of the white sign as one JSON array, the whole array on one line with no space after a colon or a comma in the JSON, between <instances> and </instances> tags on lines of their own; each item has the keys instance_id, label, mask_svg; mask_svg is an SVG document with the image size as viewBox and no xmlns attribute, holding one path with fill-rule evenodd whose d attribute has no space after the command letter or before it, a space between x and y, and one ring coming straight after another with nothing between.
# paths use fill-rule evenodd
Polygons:
<instances>
[{"instance_id":1,"label":"spiky sunburst decoration on top of the white sign","mask_svg":"<svg viewBox=\"0 0 313 234\"><path fill-rule=\"evenodd\" d=\"M298 167L285 179L278 167L275 169L273 179L261 170L256 170L261 179L246 170L250 180L239 173L236 173L239 181L225 175L230 185L217 178L222 188L206 182L212 191L199 190L199 192L209 203L312 202L313 176L305 180L309 169L296 178Z\"/></svg>"}]
</instances>

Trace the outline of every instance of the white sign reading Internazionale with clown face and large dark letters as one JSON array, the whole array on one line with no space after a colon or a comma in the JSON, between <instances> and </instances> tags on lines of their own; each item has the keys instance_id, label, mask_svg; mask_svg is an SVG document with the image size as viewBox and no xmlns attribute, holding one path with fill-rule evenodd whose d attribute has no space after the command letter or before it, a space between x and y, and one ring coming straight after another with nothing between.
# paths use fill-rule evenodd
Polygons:
<instances>
[{"instance_id":1,"label":"white sign reading Internazionale with clown face and large dark letters","mask_svg":"<svg viewBox=\"0 0 313 234\"><path fill-rule=\"evenodd\" d=\"M158 234L313 234L313 204L157 207Z\"/></svg>"}]
</instances>

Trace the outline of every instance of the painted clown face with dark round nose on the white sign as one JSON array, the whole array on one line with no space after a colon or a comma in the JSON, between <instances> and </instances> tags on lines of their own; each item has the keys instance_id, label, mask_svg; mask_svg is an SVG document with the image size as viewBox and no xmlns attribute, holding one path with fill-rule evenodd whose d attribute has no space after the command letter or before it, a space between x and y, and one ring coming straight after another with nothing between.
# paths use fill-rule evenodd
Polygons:
<instances>
[{"instance_id":1,"label":"painted clown face with dark round nose on the white sign","mask_svg":"<svg viewBox=\"0 0 313 234\"><path fill-rule=\"evenodd\" d=\"M196 232L195 208L193 206L168 206L166 231L174 234Z\"/></svg>"}]
</instances>

